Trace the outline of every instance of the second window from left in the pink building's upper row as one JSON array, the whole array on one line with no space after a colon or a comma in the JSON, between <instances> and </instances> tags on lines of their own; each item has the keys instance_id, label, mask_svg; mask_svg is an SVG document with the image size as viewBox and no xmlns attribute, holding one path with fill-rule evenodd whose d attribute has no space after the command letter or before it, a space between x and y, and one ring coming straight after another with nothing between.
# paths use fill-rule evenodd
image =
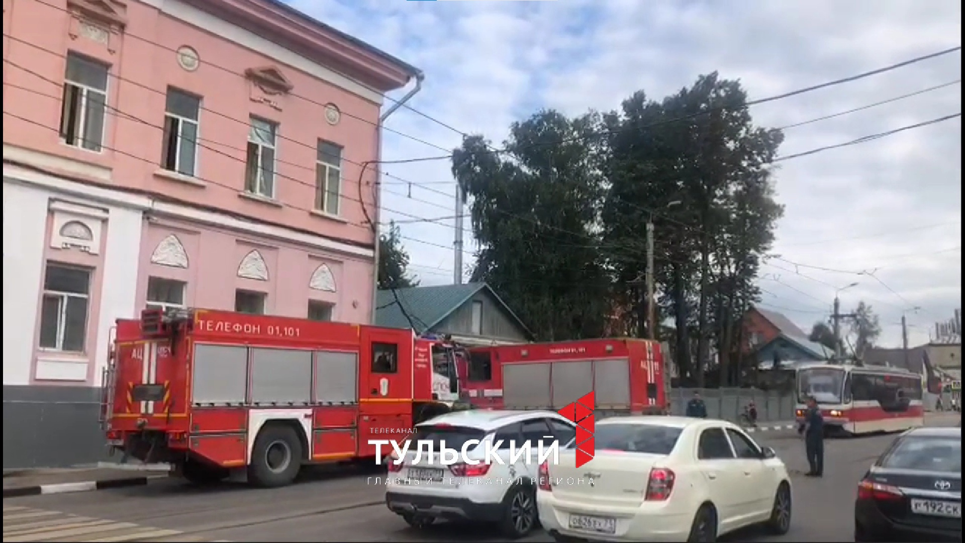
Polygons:
<instances>
[{"instance_id":1,"label":"second window from left in the pink building's upper row","mask_svg":"<svg viewBox=\"0 0 965 543\"><path fill-rule=\"evenodd\" d=\"M198 116L201 99L168 89L164 110L164 142L161 167L193 176L198 155Z\"/></svg>"}]
</instances>

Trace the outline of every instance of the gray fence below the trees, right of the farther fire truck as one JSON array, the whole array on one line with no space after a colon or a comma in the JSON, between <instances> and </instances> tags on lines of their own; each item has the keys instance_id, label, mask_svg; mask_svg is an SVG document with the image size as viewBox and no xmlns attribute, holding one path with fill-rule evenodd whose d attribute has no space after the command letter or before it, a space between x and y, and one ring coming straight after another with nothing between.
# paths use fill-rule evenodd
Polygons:
<instances>
[{"instance_id":1,"label":"gray fence below the trees, right of the farther fire truck","mask_svg":"<svg viewBox=\"0 0 965 543\"><path fill-rule=\"evenodd\" d=\"M686 414L687 402L699 392L707 406L707 416L741 422L741 414L748 404L758 408L758 423L794 420L797 399L791 392L774 392L757 388L672 388L671 413Z\"/></svg>"}]
</instances>

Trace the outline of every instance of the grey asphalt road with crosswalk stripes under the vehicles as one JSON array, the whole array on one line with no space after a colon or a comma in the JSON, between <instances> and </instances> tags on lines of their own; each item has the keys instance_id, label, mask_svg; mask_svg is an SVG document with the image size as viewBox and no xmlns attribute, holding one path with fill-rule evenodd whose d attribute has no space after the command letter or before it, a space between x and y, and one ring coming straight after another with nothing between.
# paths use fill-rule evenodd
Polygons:
<instances>
[{"instance_id":1,"label":"grey asphalt road with crosswalk stripes under the vehicles","mask_svg":"<svg viewBox=\"0 0 965 543\"><path fill-rule=\"evenodd\" d=\"M955 420L957 422L957 418ZM790 533L750 530L731 541L850 541L856 485L894 436L830 440L821 479L806 471L804 444L761 435L791 471ZM408 528L382 502L374 473L319 471L282 489L239 483L199 489L177 480L146 487L3 500L3 541L500 541L476 526ZM527 541L551 539L543 533Z\"/></svg>"}]
</instances>

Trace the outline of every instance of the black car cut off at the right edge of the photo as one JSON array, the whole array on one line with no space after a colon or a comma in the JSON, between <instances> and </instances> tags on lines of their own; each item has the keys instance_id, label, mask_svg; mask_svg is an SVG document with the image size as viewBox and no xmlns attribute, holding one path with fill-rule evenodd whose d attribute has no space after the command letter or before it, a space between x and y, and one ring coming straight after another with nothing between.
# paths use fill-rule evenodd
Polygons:
<instances>
[{"instance_id":1,"label":"black car cut off at the right edge of the photo","mask_svg":"<svg viewBox=\"0 0 965 543\"><path fill-rule=\"evenodd\" d=\"M858 484L855 541L962 540L961 428L899 436Z\"/></svg>"}]
</instances>

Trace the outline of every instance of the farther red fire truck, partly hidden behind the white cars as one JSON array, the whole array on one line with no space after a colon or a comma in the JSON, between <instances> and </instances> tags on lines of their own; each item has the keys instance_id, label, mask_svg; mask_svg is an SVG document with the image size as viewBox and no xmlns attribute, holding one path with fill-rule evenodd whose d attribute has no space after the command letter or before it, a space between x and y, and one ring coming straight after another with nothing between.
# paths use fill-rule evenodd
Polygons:
<instances>
[{"instance_id":1,"label":"farther red fire truck, partly hidden behind the white cars","mask_svg":"<svg viewBox=\"0 0 965 543\"><path fill-rule=\"evenodd\" d=\"M669 412L669 357L644 339L588 339L470 349L460 386L476 407L557 410L593 390L607 414Z\"/></svg>"}]
</instances>

